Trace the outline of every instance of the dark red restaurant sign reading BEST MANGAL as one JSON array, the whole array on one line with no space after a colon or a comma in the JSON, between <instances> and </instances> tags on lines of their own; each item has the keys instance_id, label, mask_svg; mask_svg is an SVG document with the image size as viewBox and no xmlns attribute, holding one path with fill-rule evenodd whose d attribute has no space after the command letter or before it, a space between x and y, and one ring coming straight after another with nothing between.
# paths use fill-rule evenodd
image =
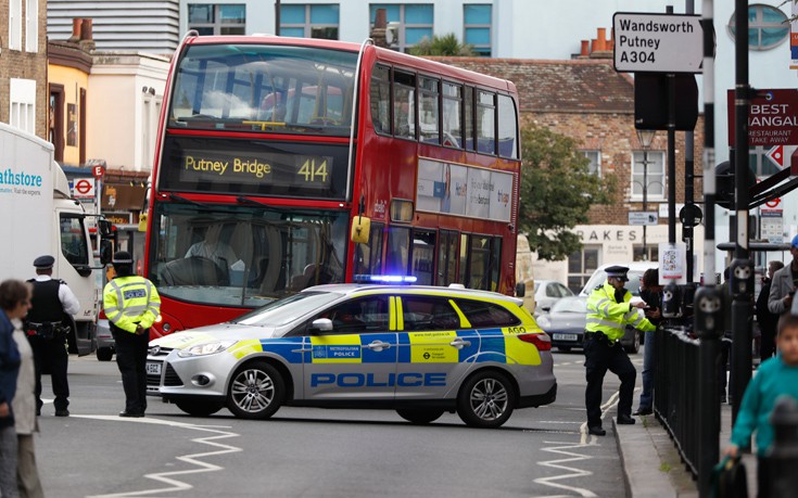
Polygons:
<instances>
[{"instance_id":1,"label":"dark red restaurant sign reading BEST MANGAL","mask_svg":"<svg viewBox=\"0 0 798 498\"><path fill-rule=\"evenodd\" d=\"M726 92L729 145L735 140L734 90ZM748 145L798 145L798 90L758 90L748 106Z\"/></svg>"}]
</instances>

